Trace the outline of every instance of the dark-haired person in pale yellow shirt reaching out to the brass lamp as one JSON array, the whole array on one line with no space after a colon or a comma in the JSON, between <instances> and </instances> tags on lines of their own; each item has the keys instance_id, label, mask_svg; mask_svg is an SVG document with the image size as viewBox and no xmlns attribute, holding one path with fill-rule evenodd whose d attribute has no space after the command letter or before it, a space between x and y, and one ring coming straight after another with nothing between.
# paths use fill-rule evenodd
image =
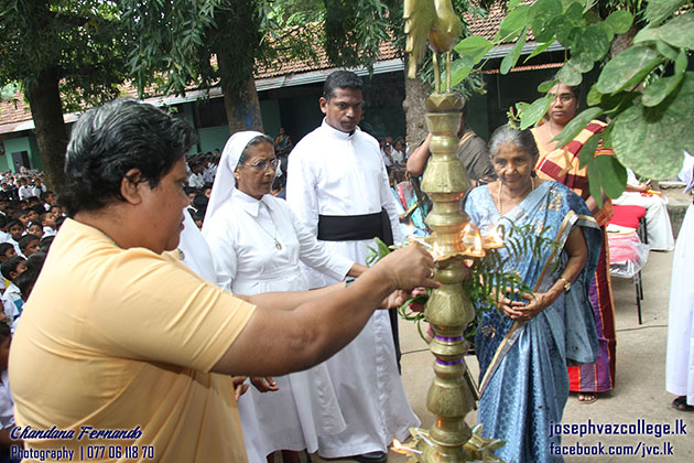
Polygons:
<instances>
[{"instance_id":1,"label":"dark-haired person in pale yellow shirt reaching out to the brass lamp","mask_svg":"<svg viewBox=\"0 0 694 463\"><path fill-rule=\"evenodd\" d=\"M393 252L354 284L235 297L178 261L187 197L181 119L137 100L87 111L67 149L56 236L12 343L26 460L245 462L229 375L325 360L433 259ZM55 437L59 439L55 439ZM53 437L54 439L48 439Z\"/></svg>"}]
</instances>

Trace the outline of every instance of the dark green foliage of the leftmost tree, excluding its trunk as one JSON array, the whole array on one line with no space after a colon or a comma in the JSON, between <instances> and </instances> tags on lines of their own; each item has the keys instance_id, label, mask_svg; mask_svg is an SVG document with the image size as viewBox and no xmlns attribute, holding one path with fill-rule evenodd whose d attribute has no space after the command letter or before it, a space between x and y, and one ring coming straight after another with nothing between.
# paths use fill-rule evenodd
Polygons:
<instances>
[{"instance_id":1,"label":"dark green foliage of the leftmost tree, excluding its trunk","mask_svg":"<svg viewBox=\"0 0 694 463\"><path fill-rule=\"evenodd\" d=\"M119 95L127 49L112 1L0 1L0 85L26 88L53 68L65 111Z\"/></svg>"}]
</instances>

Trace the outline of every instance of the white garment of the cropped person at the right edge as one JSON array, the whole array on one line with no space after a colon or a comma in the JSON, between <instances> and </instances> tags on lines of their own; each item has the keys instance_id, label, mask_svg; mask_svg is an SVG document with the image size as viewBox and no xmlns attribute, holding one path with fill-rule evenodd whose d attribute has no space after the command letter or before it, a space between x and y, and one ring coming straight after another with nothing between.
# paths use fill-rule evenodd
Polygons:
<instances>
[{"instance_id":1,"label":"white garment of the cropped person at the right edge","mask_svg":"<svg viewBox=\"0 0 694 463\"><path fill-rule=\"evenodd\" d=\"M665 389L694 406L694 204L690 204L672 259Z\"/></svg>"}]
</instances>

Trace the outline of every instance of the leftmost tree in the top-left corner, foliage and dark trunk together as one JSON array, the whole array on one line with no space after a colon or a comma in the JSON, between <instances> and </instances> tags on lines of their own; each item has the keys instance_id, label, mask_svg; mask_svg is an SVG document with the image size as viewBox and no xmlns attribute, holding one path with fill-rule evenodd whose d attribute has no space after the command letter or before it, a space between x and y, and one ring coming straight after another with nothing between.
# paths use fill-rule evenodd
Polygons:
<instances>
[{"instance_id":1,"label":"leftmost tree in the top-left corner, foliage and dark trunk together","mask_svg":"<svg viewBox=\"0 0 694 463\"><path fill-rule=\"evenodd\" d=\"M0 0L0 86L23 90L51 187L63 173L63 112L120 94L128 39L113 1Z\"/></svg>"}]
</instances>

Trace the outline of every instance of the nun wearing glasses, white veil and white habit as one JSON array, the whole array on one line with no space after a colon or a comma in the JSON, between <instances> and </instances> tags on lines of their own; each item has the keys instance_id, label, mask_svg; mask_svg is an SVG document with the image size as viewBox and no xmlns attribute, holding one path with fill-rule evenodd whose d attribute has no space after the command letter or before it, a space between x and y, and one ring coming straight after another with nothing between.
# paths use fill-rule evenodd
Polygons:
<instances>
[{"instance_id":1,"label":"nun wearing glasses, white veil and white habit","mask_svg":"<svg viewBox=\"0 0 694 463\"><path fill-rule=\"evenodd\" d=\"M273 141L263 133L237 132L224 148L203 225L219 284L247 295L307 290L300 261L337 280L361 273L365 267L328 255L269 194L276 168ZM319 435L345 429L325 364L273 379L276 391L251 388L239 400L250 463L278 450L313 453Z\"/></svg>"}]
</instances>

